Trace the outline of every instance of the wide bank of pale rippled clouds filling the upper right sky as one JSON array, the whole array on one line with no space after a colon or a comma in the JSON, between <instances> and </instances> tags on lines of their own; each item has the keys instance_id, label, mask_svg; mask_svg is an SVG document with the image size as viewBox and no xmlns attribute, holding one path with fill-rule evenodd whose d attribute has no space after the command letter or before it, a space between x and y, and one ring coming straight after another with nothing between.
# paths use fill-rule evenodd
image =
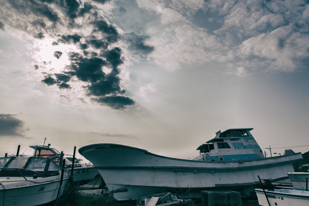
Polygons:
<instances>
[{"instance_id":1,"label":"wide bank of pale rippled clouds filling the upper right sky","mask_svg":"<svg viewBox=\"0 0 309 206\"><path fill-rule=\"evenodd\" d=\"M160 27L148 28L148 42L156 45L150 58L168 70L216 61L228 69L244 65L248 73L292 72L309 57L309 7L302 1L139 0L138 5L158 15Z\"/></svg>"}]
</instances>

